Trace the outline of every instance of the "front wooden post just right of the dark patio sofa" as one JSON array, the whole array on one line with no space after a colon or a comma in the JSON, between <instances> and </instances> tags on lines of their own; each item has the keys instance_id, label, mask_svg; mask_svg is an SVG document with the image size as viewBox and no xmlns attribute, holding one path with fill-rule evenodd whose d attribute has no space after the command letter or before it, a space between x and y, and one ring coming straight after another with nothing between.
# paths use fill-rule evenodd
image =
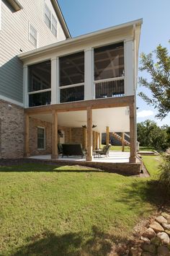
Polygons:
<instances>
[{"instance_id":1,"label":"front wooden post just right of the dark patio sofa","mask_svg":"<svg viewBox=\"0 0 170 256\"><path fill-rule=\"evenodd\" d=\"M87 107L87 129L86 129L86 135L87 135L87 145L86 145L86 161L92 160L92 110L91 107Z\"/></svg>"}]
</instances>

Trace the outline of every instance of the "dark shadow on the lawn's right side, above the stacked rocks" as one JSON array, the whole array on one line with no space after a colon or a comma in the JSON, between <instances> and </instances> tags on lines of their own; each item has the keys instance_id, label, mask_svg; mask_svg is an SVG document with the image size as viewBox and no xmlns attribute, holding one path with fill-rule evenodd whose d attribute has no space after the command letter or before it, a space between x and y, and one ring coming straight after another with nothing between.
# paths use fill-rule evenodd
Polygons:
<instances>
[{"instance_id":1,"label":"dark shadow on the lawn's right side, above the stacked rocks","mask_svg":"<svg viewBox=\"0 0 170 256\"><path fill-rule=\"evenodd\" d=\"M128 204L130 209L143 208L143 203L150 203L159 210L169 206L169 197L158 180L138 180L122 188L120 202ZM145 210L146 211L146 210ZM148 208L148 211L151 211Z\"/></svg>"}]
</instances>

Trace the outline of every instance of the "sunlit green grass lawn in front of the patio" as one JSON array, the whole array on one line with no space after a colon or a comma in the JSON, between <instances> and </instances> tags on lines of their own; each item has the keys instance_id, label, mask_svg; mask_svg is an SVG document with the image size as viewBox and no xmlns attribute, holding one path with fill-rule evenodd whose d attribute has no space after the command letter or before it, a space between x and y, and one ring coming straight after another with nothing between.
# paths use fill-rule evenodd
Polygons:
<instances>
[{"instance_id":1,"label":"sunlit green grass lawn in front of the patio","mask_svg":"<svg viewBox=\"0 0 170 256\"><path fill-rule=\"evenodd\" d=\"M0 255L107 255L161 203L151 177L86 167L0 167Z\"/></svg>"}]
</instances>

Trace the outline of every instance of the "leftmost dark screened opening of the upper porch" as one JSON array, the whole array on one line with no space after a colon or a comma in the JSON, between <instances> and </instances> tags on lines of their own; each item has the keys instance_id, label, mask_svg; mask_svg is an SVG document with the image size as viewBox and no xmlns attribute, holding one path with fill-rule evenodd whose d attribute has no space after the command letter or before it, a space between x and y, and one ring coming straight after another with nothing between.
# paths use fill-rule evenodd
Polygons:
<instances>
[{"instance_id":1,"label":"leftmost dark screened opening of the upper porch","mask_svg":"<svg viewBox=\"0 0 170 256\"><path fill-rule=\"evenodd\" d=\"M29 106L49 105L51 100L50 61L29 66Z\"/></svg>"}]
</instances>

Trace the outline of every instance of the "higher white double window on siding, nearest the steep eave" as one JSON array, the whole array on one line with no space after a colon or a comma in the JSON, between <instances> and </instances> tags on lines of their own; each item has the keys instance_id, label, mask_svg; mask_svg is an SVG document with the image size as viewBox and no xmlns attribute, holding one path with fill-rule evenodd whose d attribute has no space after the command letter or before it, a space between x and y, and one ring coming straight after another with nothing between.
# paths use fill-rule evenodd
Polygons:
<instances>
[{"instance_id":1,"label":"higher white double window on siding, nearest the steep eave","mask_svg":"<svg viewBox=\"0 0 170 256\"><path fill-rule=\"evenodd\" d=\"M57 20L48 8L47 4L45 4L45 23L48 25L53 35L57 37Z\"/></svg>"}]
</instances>

